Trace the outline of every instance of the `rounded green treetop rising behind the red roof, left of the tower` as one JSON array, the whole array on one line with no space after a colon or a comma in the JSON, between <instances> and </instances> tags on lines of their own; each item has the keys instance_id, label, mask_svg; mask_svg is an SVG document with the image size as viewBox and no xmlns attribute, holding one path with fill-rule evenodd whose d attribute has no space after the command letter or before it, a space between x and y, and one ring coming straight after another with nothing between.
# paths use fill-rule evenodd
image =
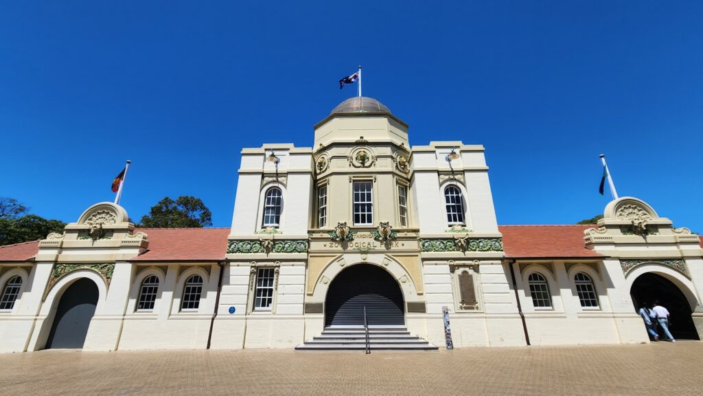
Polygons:
<instances>
[{"instance_id":1,"label":"rounded green treetop rising behind the red roof, left of the tower","mask_svg":"<svg viewBox=\"0 0 703 396\"><path fill-rule=\"evenodd\" d=\"M182 228L212 226L212 213L200 198L179 196L176 200L166 197L151 207L141 218L140 226L148 228Z\"/></svg>"}]
</instances>

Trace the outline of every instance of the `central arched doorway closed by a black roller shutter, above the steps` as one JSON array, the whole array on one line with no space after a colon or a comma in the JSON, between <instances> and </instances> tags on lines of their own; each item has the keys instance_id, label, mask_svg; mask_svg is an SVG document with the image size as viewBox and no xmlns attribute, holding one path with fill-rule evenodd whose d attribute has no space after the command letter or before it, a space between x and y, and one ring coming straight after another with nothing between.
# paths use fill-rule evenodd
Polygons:
<instances>
[{"instance_id":1,"label":"central arched doorway closed by a black roller shutter, above the steps","mask_svg":"<svg viewBox=\"0 0 703 396\"><path fill-rule=\"evenodd\" d=\"M405 326L403 292L381 267L356 264L330 283L325 301L325 326Z\"/></svg>"}]
</instances>

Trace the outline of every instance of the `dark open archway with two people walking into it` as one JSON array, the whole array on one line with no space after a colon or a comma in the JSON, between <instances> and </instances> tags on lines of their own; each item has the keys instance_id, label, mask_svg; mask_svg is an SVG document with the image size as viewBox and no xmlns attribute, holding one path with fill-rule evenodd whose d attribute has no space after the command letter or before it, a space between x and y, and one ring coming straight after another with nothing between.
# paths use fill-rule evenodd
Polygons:
<instances>
[{"instance_id":1,"label":"dark open archway with two people walking into it","mask_svg":"<svg viewBox=\"0 0 703 396\"><path fill-rule=\"evenodd\" d=\"M652 303L659 300L659 304L671 314L669 330L673 338L699 340L690 304L681 289L669 279L651 272L642 274L632 283L630 295L636 310L640 308L640 302ZM661 332L659 334L663 336Z\"/></svg>"}]
</instances>

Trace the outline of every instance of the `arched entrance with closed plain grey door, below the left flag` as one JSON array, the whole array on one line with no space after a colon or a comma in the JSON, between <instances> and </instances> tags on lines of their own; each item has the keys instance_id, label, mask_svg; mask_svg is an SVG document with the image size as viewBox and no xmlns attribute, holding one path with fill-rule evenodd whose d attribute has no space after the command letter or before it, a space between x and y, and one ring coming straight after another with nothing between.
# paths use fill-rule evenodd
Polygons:
<instances>
[{"instance_id":1,"label":"arched entrance with closed plain grey door, below the left flag","mask_svg":"<svg viewBox=\"0 0 703 396\"><path fill-rule=\"evenodd\" d=\"M83 347L98 295L98 286L91 279L78 279L68 286L58 302L46 349Z\"/></svg>"}]
</instances>

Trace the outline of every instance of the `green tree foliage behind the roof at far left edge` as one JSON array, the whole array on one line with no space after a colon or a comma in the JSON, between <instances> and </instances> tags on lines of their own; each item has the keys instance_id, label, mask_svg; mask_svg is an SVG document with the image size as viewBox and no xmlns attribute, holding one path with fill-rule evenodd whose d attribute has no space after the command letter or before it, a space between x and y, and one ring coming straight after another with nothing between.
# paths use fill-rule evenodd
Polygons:
<instances>
[{"instance_id":1,"label":"green tree foliage behind the roof at far left edge","mask_svg":"<svg viewBox=\"0 0 703 396\"><path fill-rule=\"evenodd\" d=\"M0 218L0 245L12 245L46 238L52 232L61 232L66 223L44 219L37 215Z\"/></svg>"}]
</instances>

